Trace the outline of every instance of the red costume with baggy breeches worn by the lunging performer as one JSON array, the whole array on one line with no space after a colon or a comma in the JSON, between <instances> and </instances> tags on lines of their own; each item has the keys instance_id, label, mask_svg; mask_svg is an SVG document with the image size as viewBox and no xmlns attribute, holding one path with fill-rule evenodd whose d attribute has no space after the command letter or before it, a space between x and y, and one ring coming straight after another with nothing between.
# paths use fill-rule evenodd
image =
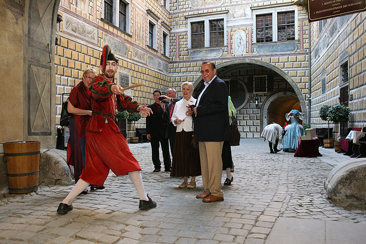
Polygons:
<instances>
[{"instance_id":1,"label":"red costume with baggy breeches worn by the lunging performer","mask_svg":"<svg viewBox=\"0 0 366 244\"><path fill-rule=\"evenodd\" d=\"M114 95L112 81L98 75L89 86L93 115L86 132L85 168L81 179L87 183L103 185L109 169L116 176L141 170L126 139L114 122L116 108L119 111L137 112L138 102L125 95Z\"/></svg>"}]
</instances>

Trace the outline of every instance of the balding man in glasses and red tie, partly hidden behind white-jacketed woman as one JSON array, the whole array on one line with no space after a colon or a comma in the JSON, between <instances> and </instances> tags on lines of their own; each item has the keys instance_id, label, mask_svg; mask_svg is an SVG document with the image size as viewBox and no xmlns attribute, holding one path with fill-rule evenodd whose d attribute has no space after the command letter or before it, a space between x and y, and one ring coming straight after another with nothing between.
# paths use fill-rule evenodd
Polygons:
<instances>
[{"instance_id":1,"label":"balding man in glasses and red tie, partly hidden behind white-jacketed woman","mask_svg":"<svg viewBox=\"0 0 366 244\"><path fill-rule=\"evenodd\" d=\"M174 88L167 89L166 95L168 95L168 96L162 95L162 97L164 97L164 101L169 101L169 103L166 105L166 109L165 109L165 112L166 112L165 116L167 117L166 120L168 121L168 124L166 126L165 138L169 139L170 151L173 155L175 133L177 131L177 127L174 126L171 118L172 118L175 103L180 101L182 99L182 97L177 98L177 91Z\"/></svg>"}]
</instances>

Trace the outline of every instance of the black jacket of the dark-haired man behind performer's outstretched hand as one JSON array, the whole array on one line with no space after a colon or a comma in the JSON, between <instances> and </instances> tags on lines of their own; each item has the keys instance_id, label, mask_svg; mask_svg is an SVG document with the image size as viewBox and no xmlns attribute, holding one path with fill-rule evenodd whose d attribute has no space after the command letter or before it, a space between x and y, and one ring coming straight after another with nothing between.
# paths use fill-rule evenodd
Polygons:
<instances>
[{"instance_id":1,"label":"black jacket of the dark-haired man behind performer's outstretched hand","mask_svg":"<svg viewBox=\"0 0 366 244\"><path fill-rule=\"evenodd\" d=\"M151 108L153 114L146 117L146 134L150 134L151 138L165 137L167 121L163 118L163 108L158 112L155 102L147 107Z\"/></svg>"}]
</instances>

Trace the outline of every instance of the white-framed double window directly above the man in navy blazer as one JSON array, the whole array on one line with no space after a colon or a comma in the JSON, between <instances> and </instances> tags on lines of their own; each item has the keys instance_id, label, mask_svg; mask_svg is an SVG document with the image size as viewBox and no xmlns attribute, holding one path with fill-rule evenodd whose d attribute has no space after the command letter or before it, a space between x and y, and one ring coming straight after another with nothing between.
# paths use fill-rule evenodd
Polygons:
<instances>
[{"instance_id":1,"label":"white-framed double window directly above the man in navy blazer","mask_svg":"<svg viewBox=\"0 0 366 244\"><path fill-rule=\"evenodd\" d=\"M225 35L225 14L188 19L188 48L225 46Z\"/></svg>"}]
</instances>

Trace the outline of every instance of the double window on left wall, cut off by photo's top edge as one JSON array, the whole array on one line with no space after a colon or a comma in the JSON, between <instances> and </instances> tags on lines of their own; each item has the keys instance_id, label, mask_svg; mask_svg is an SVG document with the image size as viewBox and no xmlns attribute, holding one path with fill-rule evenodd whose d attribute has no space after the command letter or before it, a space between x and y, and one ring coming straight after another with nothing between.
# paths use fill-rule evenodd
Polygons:
<instances>
[{"instance_id":1,"label":"double window on left wall, cut off by photo's top edge","mask_svg":"<svg viewBox=\"0 0 366 244\"><path fill-rule=\"evenodd\" d=\"M126 0L104 0L104 20L129 33L130 4Z\"/></svg>"}]
</instances>

